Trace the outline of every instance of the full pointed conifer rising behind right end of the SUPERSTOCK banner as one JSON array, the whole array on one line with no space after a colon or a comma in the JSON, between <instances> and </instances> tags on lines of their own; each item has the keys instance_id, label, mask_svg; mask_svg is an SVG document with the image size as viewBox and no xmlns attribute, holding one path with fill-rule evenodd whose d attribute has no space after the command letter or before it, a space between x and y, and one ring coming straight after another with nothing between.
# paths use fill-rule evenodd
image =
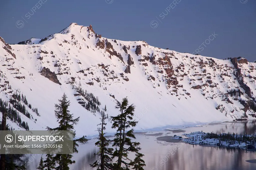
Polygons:
<instances>
[{"instance_id":1,"label":"full pointed conifer rising behind right end of the SUPERSTOCK banner","mask_svg":"<svg viewBox=\"0 0 256 170\"><path fill-rule=\"evenodd\" d=\"M55 117L57 118L59 127L47 127L47 130L72 130L74 131L73 138L76 138L76 131L74 130L74 125L79 122L80 117L73 119L73 114L70 114L68 110L69 106L70 101L67 100L67 96L64 93L61 100L59 100L59 104L55 104ZM87 139L86 136L83 136L79 139L73 140L73 142L73 152L78 153L78 143L84 144L87 142ZM75 163L75 161L71 160L72 157L73 155L71 154L56 154L56 156L54 156L54 160L59 164L59 166L56 167L56 170L69 170L68 165Z\"/></svg>"}]
</instances>

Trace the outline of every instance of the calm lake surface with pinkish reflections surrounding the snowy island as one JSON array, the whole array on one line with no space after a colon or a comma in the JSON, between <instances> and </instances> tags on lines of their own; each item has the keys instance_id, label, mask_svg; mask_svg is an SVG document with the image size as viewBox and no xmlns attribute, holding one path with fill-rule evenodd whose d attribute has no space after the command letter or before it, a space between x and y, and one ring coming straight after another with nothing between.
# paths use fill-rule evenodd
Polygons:
<instances>
[{"instance_id":1,"label":"calm lake surface with pinkish reflections surrounding the snowy island","mask_svg":"<svg viewBox=\"0 0 256 170\"><path fill-rule=\"evenodd\" d=\"M170 140L177 135L195 131L217 133L256 133L256 121L223 122L208 125L168 129L163 131L137 132L136 141L141 143L146 163L145 170L255 170L256 150L225 148L206 145L191 145L180 140ZM256 140L256 139L255 139ZM95 161L96 140L79 146L79 153L74 155L76 164L70 169L89 170ZM134 155L130 155L133 159ZM40 157L39 157L40 159Z\"/></svg>"}]
</instances>

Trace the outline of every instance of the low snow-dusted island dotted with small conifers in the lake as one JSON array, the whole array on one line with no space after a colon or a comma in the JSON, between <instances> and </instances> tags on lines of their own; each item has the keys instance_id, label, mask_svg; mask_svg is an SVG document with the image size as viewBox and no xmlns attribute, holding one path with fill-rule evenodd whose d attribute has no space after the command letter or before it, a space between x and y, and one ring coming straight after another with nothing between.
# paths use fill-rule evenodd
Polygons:
<instances>
[{"instance_id":1,"label":"low snow-dusted island dotted with small conifers in the lake","mask_svg":"<svg viewBox=\"0 0 256 170\"><path fill-rule=\"evenodd\" d=\"M235 133L205 133L205 132L191 132L183 134L187 138L176 136L172 139L182 139L182 141L189 144L200 145L218 145L222 147L239 147L241 149L256 148L256 135L235 134Z\"/></svg>"}]
</instances>

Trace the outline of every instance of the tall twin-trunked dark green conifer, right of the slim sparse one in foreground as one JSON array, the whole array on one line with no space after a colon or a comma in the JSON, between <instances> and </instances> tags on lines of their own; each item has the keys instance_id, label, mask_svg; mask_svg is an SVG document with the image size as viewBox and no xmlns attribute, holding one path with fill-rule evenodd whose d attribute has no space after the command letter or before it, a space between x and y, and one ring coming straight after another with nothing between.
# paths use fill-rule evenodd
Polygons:
<instances>
[{"instance_id":1,"label":"tall twin-trunked dark green conifer, right of the slim sparse one in foreground","mask_svg":"<svg viewBox=\"0 0 256 170\"><path fill-rule=\"evenodd\" d=\"M113 147L116 147L115 151L113 152L113 157L117 157L118 160L116 163L114 163L114 169L127 169L130 166L135 166L132 160L128 158L129 152L135 152L136 154L139 154L138 151L141 150L139 147L139 142L132 142L132 139L136 139L135 135L133 134L133 127L136 126L138 122L135 122L133 120L134 116L134 110L135 106L128 105L128 99L123 98L122 103L119 101L116 101L116 109L119 109L121 112L117 116L111 116L111 120L113 121L113 125L111 128L117 129L115 133L115 139L113 140ZM129 129L129 130L128 130ZM128 130L128 131L126 131ZM118 148L118 149L117 149ZM139 157L137 157L137 160L141 160L141 157L143 155L139 154ZM127 163L126 161L130 161ZM141 160L140 162L143 164ZM138 163L138 161L136 161ZM121 165L124 164L125 167L121 167ZM143 168L142 168L143 169Z\"/></svg>"}]
</instances>

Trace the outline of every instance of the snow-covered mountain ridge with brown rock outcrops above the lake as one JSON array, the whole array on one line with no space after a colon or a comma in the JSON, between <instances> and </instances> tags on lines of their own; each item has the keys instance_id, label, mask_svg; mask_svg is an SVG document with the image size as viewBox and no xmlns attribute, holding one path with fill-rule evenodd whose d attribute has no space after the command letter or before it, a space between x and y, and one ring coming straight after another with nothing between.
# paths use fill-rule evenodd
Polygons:
<instances>
[{"instance_id":1,"label":"snow-covered mountain ridge with brown rock outcrops above the lake","mask_svg":"<svg viewBox=\"0 0 256 170\"><path fill-rule=\"evenodd\" d=\"M117 115L115 99L126 96L136 106L135 130L256 117L256 63L107 39L91 25L71 23L15 45L0 37L0 68L2 105L19 115L7 120L15 129L23 121L30 130L56 127L54 104L64 92L80 116L77 135L97 134L105 105L108 116Z\"/></svg>"}]
</instances>

